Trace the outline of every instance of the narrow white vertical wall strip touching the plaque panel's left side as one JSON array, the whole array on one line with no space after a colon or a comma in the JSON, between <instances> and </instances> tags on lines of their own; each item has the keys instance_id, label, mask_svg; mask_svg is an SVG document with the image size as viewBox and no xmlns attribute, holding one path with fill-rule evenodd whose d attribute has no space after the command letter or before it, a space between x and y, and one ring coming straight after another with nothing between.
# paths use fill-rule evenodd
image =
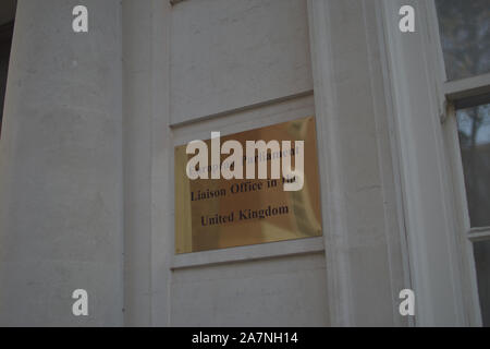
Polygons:
<instances>
[{"instance_id":1,"label":"narrow white vertical wall strip touching the plaque panel's left side","mask_svg":"<svg viewBox=\"0 0 490 349\"><path fill-rule=\"evenodd\" d=\"M151 1L151 325L171 324L173 140L170 129L171 5ZM172 224L169 224L172 222Z\"/></svg>"}]
</instances>

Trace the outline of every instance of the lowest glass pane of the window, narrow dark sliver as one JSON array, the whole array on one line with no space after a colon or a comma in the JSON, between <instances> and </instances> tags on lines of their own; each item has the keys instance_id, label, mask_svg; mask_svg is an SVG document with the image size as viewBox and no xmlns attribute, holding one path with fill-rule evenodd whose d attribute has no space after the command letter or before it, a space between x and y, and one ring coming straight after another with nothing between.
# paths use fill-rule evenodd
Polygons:
<instances>
[{"instance_id":1,"label":"lowest glass pane of the window, narrow dark sliver","mask_svg":"<svg viewBox=\"0 0 490 349\"><path fill-rule=\"evenodd\" d=\"M490 241L473 245L483 326L490 327Z\"/></svg>"}]
</instances>

